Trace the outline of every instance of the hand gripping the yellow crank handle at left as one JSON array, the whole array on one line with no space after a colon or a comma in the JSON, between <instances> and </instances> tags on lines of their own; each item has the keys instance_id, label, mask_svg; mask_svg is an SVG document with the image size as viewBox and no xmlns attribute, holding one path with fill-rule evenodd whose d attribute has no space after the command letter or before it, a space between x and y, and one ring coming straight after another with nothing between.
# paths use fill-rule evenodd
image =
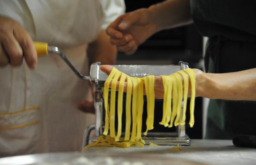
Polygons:
<instances>
[{"instance_id":1,"label":"hand gripping the yellow crank handle at left","mask_svg":"<svg viewBox=\"0 0 256 165\"><path fill-rule=\"evenodd\" d=\"M25 57L28 67L37 65L37 54L30 35L16 21L0 16L0 66L19 66Z\"/></svg>"}]
</instances>

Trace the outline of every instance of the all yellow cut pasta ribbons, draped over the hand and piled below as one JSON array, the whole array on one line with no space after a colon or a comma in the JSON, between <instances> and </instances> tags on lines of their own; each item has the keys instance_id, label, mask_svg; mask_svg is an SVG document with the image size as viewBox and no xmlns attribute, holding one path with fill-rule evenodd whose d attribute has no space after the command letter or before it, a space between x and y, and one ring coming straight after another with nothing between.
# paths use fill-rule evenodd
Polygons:
<instances>
[{"instance_id":1,"label":"all yellow cut pasta ribbons, draped over the hand and piled below","mask_svg":"<svg viewBox=\"0 0 256 165\"><path fill-rule=\"evenodd\" d=\"M194 100L195 100L195 74L192 69L178 71L171 75L161 75L164 86L164 105L163 117L159 124L165 127L184 125L186 119L187 94L189 80L191 85L190 99L190 127L194 125ZM121 137L122 132L122 114L123 114L123 90L125 79L127 80L126 93L126 130L124 139ZM117 117L118 126L117 134L115 130L115 112L116 112L116 83L119 80ZM109 106L109 85L111 82L110 106ZM145 91L144 90L145 86ZM113 68L105 81L102 88L104 97L105 127L104 136L100 136L97 141L85 146L83 150L90 146L117 146L129 148L130 146L144 146L145 141L142 139L142 113L143 113L143 93L147 97L147 129L154 129L154 75L148 75L144 78L135 78L121 73ZM183 109L182 109L183 101ZM110 109L110 110L109 110ZM131 115L132 114L132 115ZM132 121L131 121L132 119ZM131 127L132 124L132 127ZM132 129L131 129L132 128ZM108 135L110 131L110 135ZM131 131L131 134L130 134ZM122 142L118 142L122 141Z\"/></svg>"}]
</instances>

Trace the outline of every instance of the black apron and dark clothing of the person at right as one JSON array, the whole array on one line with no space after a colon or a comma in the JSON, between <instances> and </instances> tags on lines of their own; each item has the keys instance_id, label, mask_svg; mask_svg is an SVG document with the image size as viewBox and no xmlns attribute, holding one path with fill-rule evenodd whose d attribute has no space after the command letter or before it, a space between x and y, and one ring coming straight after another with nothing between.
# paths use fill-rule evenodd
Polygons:
<instances>
[{"instance_id":1,"label":"black apron and dark clothing of the person at right","mask_svg":"<svg viewBox=\"0 0 256 165\"><path fill-rule=\"evenodd\" d=\"M191 11L199 32L209 37L207 72L256 68L255 0L191 0ZM256 101L211 99L206 139L232 139L236 134L256 135Z\"/></svg>"}]
</instances>

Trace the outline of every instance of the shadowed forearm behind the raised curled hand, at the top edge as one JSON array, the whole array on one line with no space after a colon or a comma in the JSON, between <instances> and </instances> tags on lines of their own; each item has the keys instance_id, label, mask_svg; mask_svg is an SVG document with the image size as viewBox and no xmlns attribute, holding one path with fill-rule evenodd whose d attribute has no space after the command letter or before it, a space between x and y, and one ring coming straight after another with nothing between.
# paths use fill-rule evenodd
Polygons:
<instances>
[{"instance_id":1,"label":"shadowed forearm behind the raised curled hand, at the top edge","mask_svg":"<svg viewBox=\"0 0 256 165\"><path fill-rule=\"evenodd\" d=\"M190 0L166 0L149 7L158 31L192 23Z\"/></svg>"}]
</instances>

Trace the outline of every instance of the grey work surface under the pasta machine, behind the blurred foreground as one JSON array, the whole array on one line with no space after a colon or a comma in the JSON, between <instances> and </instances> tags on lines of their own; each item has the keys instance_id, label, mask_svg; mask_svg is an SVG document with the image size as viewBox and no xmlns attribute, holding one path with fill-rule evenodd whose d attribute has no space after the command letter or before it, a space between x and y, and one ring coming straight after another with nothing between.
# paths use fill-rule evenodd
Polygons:
<instances>
[{"instance_id":1,"label":"grey work surface under the pasta machine, behind the blurred foreground","mask_svg":"<svg viewBox=\"0 0 256 165\"><path fill-rule=\"evenodd\" d=\"M213 165L256 165L256 148L240 148L231 140L192 139L191 146L179 146L180 151L171 150L174 146L145 146L131 148L91 147L85 153L123 153L143 154L148 157L162 156L180 158Z\"/></svg>"}]
</instances>

